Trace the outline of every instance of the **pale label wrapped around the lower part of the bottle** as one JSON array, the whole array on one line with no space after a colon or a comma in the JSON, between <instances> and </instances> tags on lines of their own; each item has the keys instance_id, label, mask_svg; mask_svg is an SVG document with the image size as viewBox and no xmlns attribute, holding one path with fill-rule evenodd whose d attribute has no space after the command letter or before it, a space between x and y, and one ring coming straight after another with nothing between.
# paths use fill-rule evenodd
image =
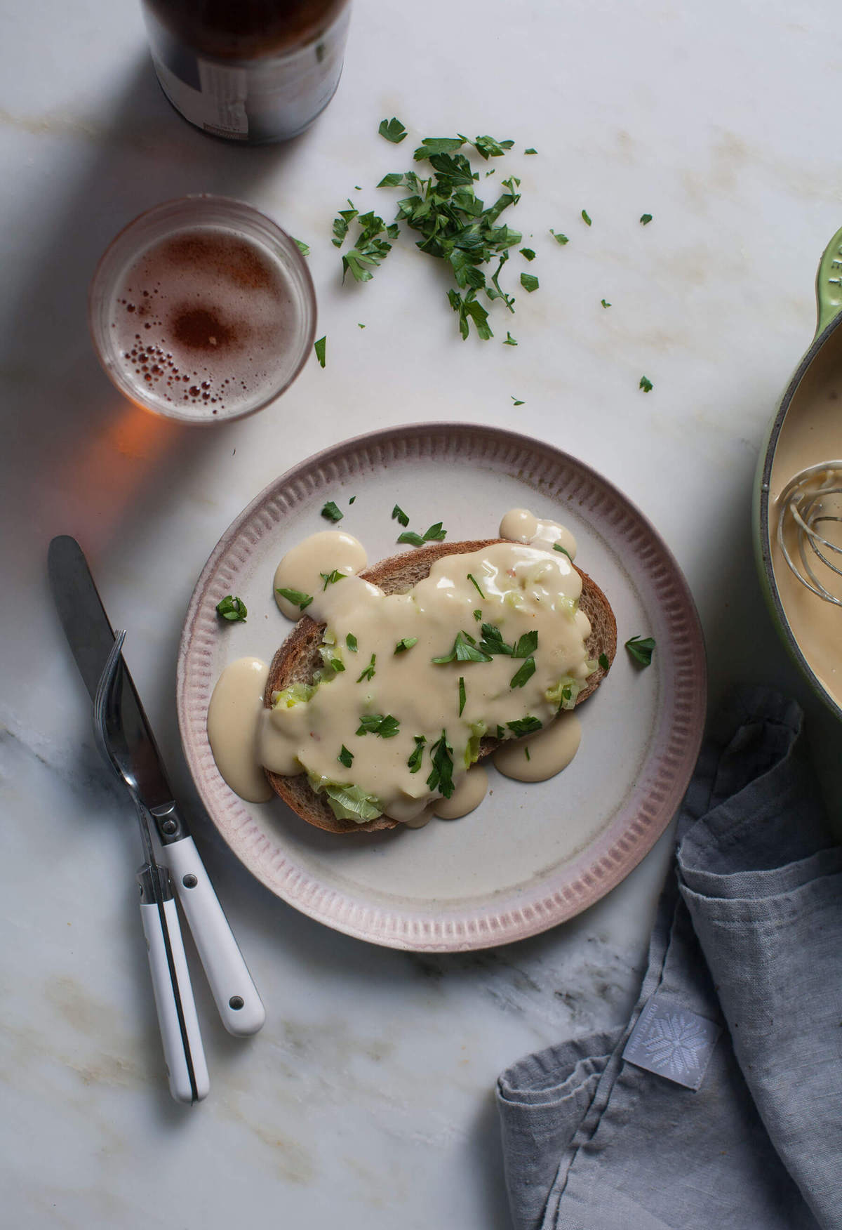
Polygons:
<instances>
[{"instance_id":1,"label":"pale label wrapped around the lower part of the bottle","mask_svg":"<svg viewBox=\"0 0 842 1230\"><path fill-rule=\"evenodd\" d=\"M197 55L148 20L161 89L197 128L241 141L296 137L328 105L342 73L349 7L317 39L286 55L236 65Z\"/></svg>"}]
</instances>

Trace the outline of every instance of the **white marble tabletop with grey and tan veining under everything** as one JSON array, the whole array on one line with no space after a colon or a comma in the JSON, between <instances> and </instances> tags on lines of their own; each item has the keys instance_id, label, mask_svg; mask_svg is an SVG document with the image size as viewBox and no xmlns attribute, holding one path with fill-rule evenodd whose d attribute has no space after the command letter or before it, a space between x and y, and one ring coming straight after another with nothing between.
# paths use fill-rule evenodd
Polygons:
<instances>
[{"instance_id":1,"label":"white marble tabletop with grey and tan veining under everything","mask_svg":"<svg viewBox=\"0 0 842 1230\"><path fill-rule=\"evenodd\" d=\"M257 150L171 111L133 0L30 0L0 22L9 1224L504 1228L494 1079L622 1018L669 839L586 915L509 948L420 958L333 934L256 884L195 808L175 722L183 613L234 514L313 449L387 423L514 413L643 508L698 603L712 697L734 679L798 694L838 798L838 732L768 622L749 515L766 423L811 337L815 266L842 223L833 9L358 0L332 106L289 146ZM413 148L376 135L392 114L413 138L488 132L540 151L506 170L522 178L541 289L519 296L514 322L498 314L494 342L458 339L431 262L408 248L371 284L339 285L336 209L348 194L379 203L372 186ZM310 362L274 407L204 433L122 403L85 323L113 232L195 191L247 198L310 242L328 338L325 370ZM516 349L499 344L506 327ZM192 1111L162 1075L133 820L49 601L57 533L80 539L130 629L136 683L269 1014L256 1038L230 1038L197 974L213 1090Z\"/></svg>"}]
</instances>

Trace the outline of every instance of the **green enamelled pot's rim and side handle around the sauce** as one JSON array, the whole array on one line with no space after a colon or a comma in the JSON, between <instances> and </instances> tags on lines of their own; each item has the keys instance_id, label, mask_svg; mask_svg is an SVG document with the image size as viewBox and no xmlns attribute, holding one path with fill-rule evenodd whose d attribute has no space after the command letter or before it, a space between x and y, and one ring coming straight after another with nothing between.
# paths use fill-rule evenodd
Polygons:
<instances>
[{"instance_id":1,"label":"green enamelled pot's rim and side handle around the sauce","mask_svg":"<svg viewBox=\"0 0 842 1230\"><path fill-rule=\"evenodd\" d=\"M781 403L777 408L774 418L772 419L765 444L761 449L753 487L752 522L755 555L760 572L761 587L772 613L772 617L778 627L778 631L781 632L781 636L783 637L787 649L793 657L795 664L806 676L816 695L821 697L831 712L842 720L842 705L840 704L842 685L835 689L836 696L831 694L828 686L816 674L814 669L815 662L810 661L810 651L805 647L803 638L799 638L794 631L790 619L784 610L784 604L782 601L781 590L773 568L773 536L777 533L777 509L771 496L772 466L774 464L776 451L781 440L781 433L784 429L784 424L792 424L797 421L797 416L799 416L799 394L803 394L805 390L808 373L816 373L820 353L821 360L819 360L819 363L826 365L827 360L833 360L835 353L837 351L840 352L838 369L842 376L842 351L840 351L842 333L840 333L838 337L836 336L837 330L842 326L842 230L838 230L830 241L819 263L819 272L816 274L816 305L817 321L815 337L812 338L804 358L798 364L793 378L781 399ZM804 399L801 399L801 405L806 405ZM842 415L842 402L840 403L840 415ZM842 439L842 427L840 428L840 438ZM842 445L840 446L836 458L817 458L817 460L831 461L836 460L840 455L842 455ZM771 526L769 514L772 515ZM798 582L795 582L795 584L798 585ZM821 599L816 598L815 601L821 603ZM832 610L838 615L837 635L842 642L842 609L832 608Z\"/></svg>"}]
</instances>

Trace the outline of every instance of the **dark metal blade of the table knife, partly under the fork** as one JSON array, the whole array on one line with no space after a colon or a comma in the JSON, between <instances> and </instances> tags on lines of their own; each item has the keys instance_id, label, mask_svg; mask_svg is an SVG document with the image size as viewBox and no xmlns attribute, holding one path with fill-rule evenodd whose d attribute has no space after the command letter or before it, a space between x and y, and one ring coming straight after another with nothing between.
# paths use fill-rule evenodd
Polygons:
<instances>
[{"instance_id":1,"label":"dark metal blade of the table knife, partly under the fork","mask_svg":"<svg viewBox=\"0 0 842 1230\"><path fill-rule=\"evenodd\" d=\"M68 534L54 538L47 555L50 589L64 633L91 700L96 696L100 676L114 643L102 599L79 542ZM132 675L123 664L120 712L128 758L138 793L150 808L172 802L161 754L155 743L146 715Z\"/></svg>"}]
</instances>

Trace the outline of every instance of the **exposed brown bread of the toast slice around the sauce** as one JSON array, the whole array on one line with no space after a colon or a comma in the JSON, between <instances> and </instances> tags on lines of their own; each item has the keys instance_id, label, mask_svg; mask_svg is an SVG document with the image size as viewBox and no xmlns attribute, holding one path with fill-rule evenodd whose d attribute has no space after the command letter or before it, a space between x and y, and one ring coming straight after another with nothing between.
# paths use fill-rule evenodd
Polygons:
<instances>
[{"instance_id":1,"label":"exposed brown bread of the toast slice around the sauce","mask_svg":"<svg viewBox=\"0 0 842 1230\"><path fill-rule=\"evenodd\" d=\"M406 555L393 555L387 560L381 560L380 563L366 568L360 576L386 594L402 594L428 577L436 560L447 555L468 555L472 551L482 551L492 542L504 541L506 540L483 539L474 542L430 542ZM597 661L604 654L608 659L610 667L617 651L617 624L613 611L600 587L580 568L576 568L576 572L581 577L579 608L585 613L591 626L590 636L585 642L588 657ZM309 615L305 615L295 625L272 659L263 697L267 708L272 707L273 692L281 691L296 683L312 683L313 673L322 664L318 647L322 643L323 631L325 624L317 624ZM580 705L599 688L608 667L597 667L588 676L586 686L576 696L576 705ZM499 739L484 738L479 747L479 759L490 755L499 744ZM374 833L376 829L393 829L398 824L398 820L393 820L388 815L380 815L364 824L337 819L327 798L311 790L306 774L300 774L296 777L283 777L267 770L266 775L275 793L294 812L309 824L315 824L316 828L326 829L328 833Z\"/></svg>"}]
</instances>

